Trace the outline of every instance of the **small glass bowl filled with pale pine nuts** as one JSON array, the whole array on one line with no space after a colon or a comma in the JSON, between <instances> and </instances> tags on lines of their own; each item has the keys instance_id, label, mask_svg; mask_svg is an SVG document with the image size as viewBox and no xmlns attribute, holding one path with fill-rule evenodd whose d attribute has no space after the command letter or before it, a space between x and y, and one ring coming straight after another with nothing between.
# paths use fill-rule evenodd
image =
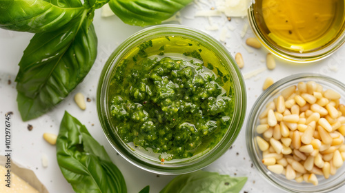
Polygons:
<instances>
[{"instance_id":1,"label":"small glass bowl filled with pale pine nuts","mask_svg":"<svg viewBox=\"0 0 345 193\"><path fill-rule=\"evenodd\" d=\"M293 74L259 96L248 117L250 159L287 192L329 192L345 184L345 85Z\"/></svg>"}]
</instances>

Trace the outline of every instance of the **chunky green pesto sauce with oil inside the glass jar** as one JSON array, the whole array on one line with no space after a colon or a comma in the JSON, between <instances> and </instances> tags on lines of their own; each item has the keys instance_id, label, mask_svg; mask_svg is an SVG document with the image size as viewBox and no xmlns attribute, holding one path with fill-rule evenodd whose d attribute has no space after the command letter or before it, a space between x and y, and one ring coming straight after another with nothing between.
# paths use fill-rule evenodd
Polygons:
<instances>
[{"instance_id":1,"label":"chunky green pesto sauce with oil inside the glass jar","mask_svg":"<svg viewBox=\"0 0 345 193\"><path fill-rule=\"evenodd\" d=\"M165 160L213 148L228 130L235 100L230 76L212 53L189 39L162 37L127 54L109 93L121 139Z\"/></svg>"}]
</instances>

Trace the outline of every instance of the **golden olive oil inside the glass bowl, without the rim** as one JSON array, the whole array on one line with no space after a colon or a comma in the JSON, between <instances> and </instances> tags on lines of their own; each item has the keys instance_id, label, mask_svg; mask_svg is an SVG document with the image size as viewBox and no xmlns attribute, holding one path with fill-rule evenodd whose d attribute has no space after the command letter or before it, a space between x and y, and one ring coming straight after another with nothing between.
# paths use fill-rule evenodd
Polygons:
<instances>
[{"instance_id":1,"label":"golden olive oil inside the glass bowl, without the rim","mask_svg":"<svg viewBox=\"0 0 345 193\"><path fill-rule=\"evenodd\" d=\"M257 0L254 10L267 41L293 52L321 49L344 31L344 0Z\"/></svg>"}]
</instances>

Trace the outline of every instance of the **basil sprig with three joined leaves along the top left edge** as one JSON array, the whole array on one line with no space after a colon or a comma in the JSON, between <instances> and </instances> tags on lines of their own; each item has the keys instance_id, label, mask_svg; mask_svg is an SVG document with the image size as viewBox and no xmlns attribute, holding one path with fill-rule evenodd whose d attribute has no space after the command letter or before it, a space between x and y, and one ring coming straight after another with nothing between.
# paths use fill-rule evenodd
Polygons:
<instances>
[{"instance_id":1,"label":"basil sprig with three joined leaves along the top left edge","mask_svg":"<svg viewBox=\"0 0 345 193\"><path fill-rule=\"evenodd\" d=\"M161 23L193 0L111 0L125 23ZM92 21L109 0L0 1L0 28L36 33L24 50L17 74L17 103L23 121L55 107L81 82L97 57Z\"/></svg>"}]
</instances>

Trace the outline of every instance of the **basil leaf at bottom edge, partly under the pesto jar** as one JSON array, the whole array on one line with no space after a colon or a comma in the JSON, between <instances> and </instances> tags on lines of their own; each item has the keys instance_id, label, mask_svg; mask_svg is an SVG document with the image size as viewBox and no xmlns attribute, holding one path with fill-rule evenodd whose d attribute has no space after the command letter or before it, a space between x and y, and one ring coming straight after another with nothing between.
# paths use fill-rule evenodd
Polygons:
<instances>
[{"instance_id":1,"label":"basil leaf at bottom edge, partly under the pesto jar","mask_svg":"<svg viewBox=\"0 0 345 193\"><path fill-rule=\"evenodd\" d=\"M160 193L237 193L242 190L246 181L247 177L230 177L228 175L219 175L217 172L205 172L200 170L175 177L175 179L172 179Z\"/></svg>"}]
</instances>

